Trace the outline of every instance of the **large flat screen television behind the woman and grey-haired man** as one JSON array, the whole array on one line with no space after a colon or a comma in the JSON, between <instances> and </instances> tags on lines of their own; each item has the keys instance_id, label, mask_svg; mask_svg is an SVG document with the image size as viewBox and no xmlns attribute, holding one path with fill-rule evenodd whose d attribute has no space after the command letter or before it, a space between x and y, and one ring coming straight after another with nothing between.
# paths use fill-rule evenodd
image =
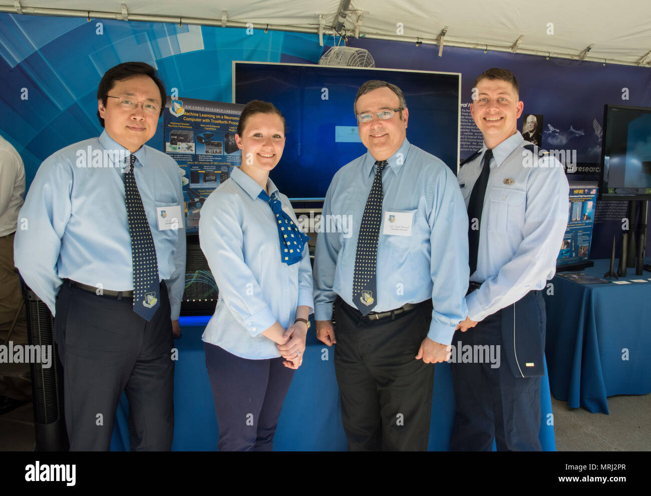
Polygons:
<instances>
[{"instance_id":1,"label":"large flat screen television behind the woman and grey-haired man","mask_svg":"<svg viewBox=\"0 0 651 496\"><path fill-rule=\"evenodd\" d=\"M290 200L323 200L335 172L366 153L353 102L370 79L400 87L409 109L409 143L437 156L456 174L460 74L233 61L232 101L264 100L284 115L283 158L270 177Z\"/></svg>"}]
</instances>

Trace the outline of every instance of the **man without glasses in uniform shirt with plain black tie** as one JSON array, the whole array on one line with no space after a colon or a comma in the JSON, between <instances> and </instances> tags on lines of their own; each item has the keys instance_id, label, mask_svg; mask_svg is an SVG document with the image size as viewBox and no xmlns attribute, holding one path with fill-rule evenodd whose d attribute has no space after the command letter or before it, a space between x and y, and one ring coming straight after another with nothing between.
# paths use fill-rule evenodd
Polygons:
<instances>
[{"instance_id":1,"label":"man without glasses in uniform shirt with plain black tie","mask_svg":"<svg viewBox=\"0 0 651 496\"><path fill-rule=\"evenodd\" d=\"M475 79L470 112L484 146L458 174L468 209L470 283L467 316L454 335L500 353L501 366L452 363L456 416L451 450L538 450L540 376L546 332L542 290L556 270L568 220L561 163L536 152L517 129L524 103L512 72ZM534 164L525 165L525 164ZM499 351L497 351L499 350Z\"/></svg>"}]
</instances>

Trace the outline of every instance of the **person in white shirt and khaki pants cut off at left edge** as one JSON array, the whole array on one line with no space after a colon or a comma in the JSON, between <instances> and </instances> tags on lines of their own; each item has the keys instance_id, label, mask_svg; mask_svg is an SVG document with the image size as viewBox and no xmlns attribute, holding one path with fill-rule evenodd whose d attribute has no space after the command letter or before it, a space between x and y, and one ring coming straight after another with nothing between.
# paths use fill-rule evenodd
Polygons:
<instances>
[{"instance_id":1,"label":"person in white shirt and khaki pants cut off at left edge","mask_svg":"<svg viewBox=\"0 0 651 496\"><path fill-rule=\"evenodd\" d=\"M0 344L27 344L27 318L18 270L14 266L14 235L23 206L25 167L11 143L0 136ZM13 325L13 328L12 328ZM31 401L28 364L0 363L0 415Z\"/></svg>"}]
</instances>

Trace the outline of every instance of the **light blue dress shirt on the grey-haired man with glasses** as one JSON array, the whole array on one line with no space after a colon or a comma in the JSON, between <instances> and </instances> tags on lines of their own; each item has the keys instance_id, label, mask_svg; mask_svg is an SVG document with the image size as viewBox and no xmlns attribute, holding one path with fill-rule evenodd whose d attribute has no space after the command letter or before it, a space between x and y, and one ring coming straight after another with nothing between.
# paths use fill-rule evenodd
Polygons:
<instances>
[{"instance_id":1,"label":"light blue dress shirt on the grey-haired man with glasses","mask_svg":"<svg viewBox=\"0 0 651 496\"><path fill-rule=\"evenodd\" d=\"M339 295L352 301L355 251L376 165L370 153L344 165L324 202L328 215L351 215L350 232L319 232L314 256L314 316L330 320ZM432 298L428 338L450 344L465 318L468 288L468 217L452 171L440 159L405 139L382 172L382 223L378 239L374 312ZM411 236L384 234L387 214L413 214ZM337 217L334 217L335 219ZM330 221L330 223L332 223ZM340 229L341 230L341 229Z\"/></svg>"}]
</instances>

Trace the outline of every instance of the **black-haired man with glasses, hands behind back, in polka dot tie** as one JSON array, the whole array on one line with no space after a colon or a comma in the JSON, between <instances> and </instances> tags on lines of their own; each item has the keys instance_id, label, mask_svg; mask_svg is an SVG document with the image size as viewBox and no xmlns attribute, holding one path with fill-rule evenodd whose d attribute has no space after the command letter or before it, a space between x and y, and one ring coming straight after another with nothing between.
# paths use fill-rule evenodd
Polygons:
<instances>
[{"instance_id":1,"label":"black-haired man with glasses, hands behind back, in polka dot tie","mask_svg":"<svg viewBox=\"0 0 651 496\"><path fill-rule=\"evenodd\" d=\"M104 74L97 98L102 135L42 163L14 258L55 316L70 449L109 449L126 391L132 450L169 450L186 269L182 176L145 145L165 85L148 64L125 62Z\"/></svg>"}]
</instances>

